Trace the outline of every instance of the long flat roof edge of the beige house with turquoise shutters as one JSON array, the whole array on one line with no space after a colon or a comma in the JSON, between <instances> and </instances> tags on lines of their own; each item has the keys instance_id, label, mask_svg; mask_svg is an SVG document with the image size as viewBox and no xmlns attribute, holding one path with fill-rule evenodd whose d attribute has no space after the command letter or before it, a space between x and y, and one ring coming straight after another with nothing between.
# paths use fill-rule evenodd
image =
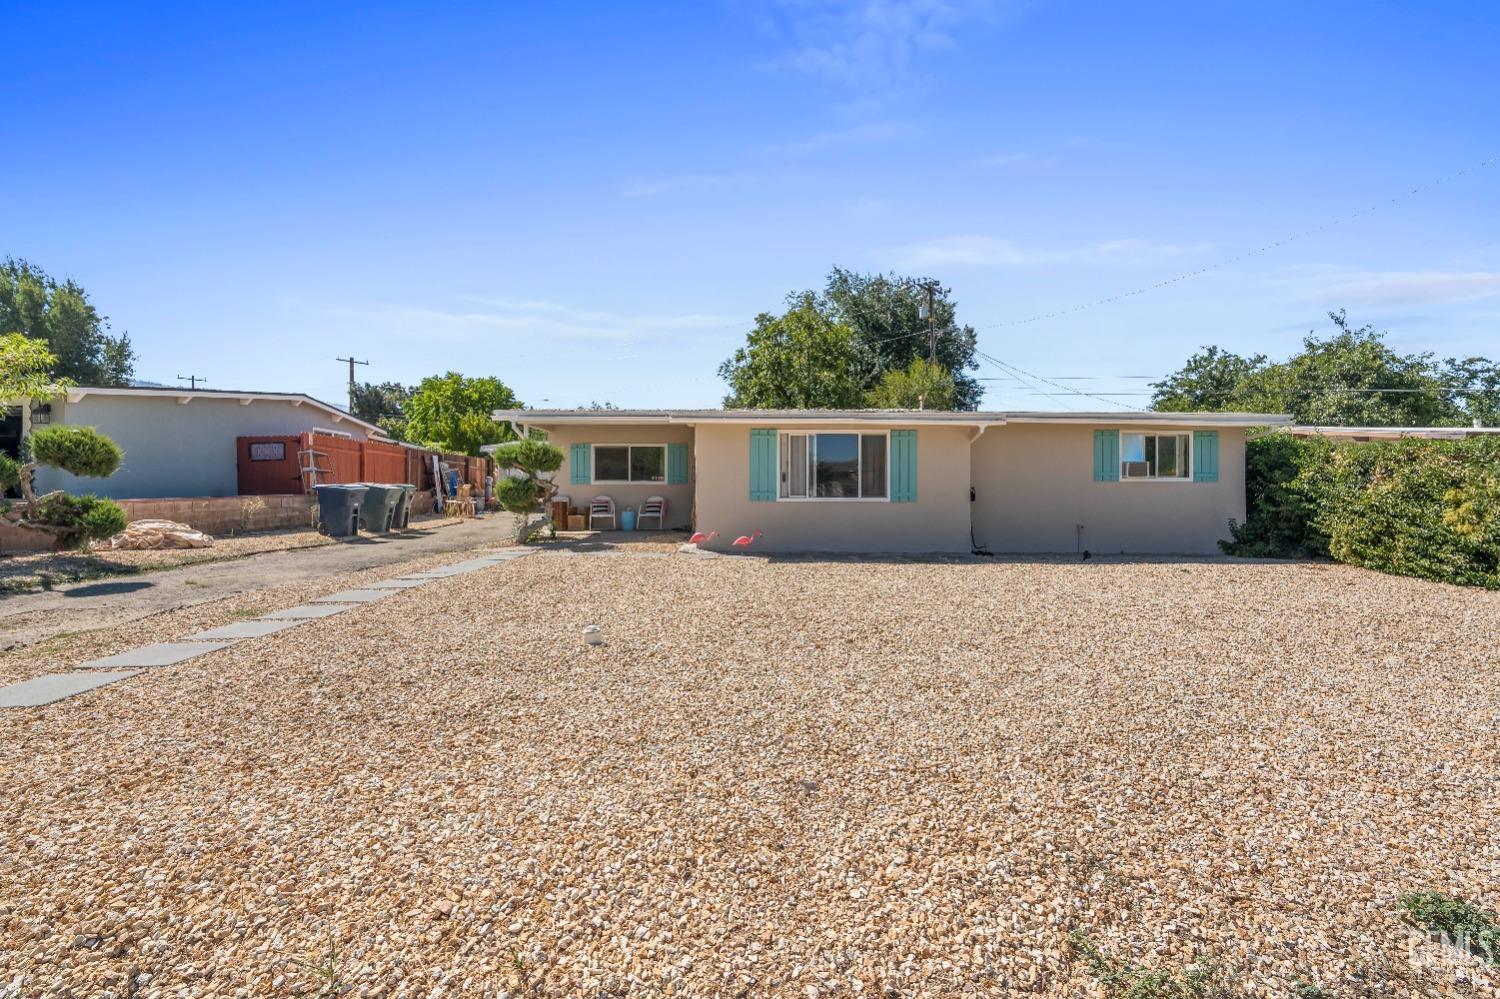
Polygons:
<instances>
[{"instance_id":1,"label":"long flat roof edge of the beige house with turquoise shutters","mask_svg":"<svg viewBox=\"0 0 1500 999\"><path fill-rule=\"evenodd\" d=\"M1274 412L1114 412L950 410L495 410L507 423L1152 423L1192 426L1287 426L1292 417Z\"/></svg>"}]
</instances>

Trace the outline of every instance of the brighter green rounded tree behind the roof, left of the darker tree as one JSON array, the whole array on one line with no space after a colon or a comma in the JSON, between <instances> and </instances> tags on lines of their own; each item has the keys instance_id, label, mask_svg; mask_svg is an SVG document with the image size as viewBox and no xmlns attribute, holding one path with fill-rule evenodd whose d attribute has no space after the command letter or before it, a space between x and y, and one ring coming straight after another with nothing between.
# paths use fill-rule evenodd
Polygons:
<instances>
[{"instance_id":1,"label":"brighter green rounded tree behind the roof, left of the darker tree","mask_svg":"<svg viewBox=\"0 0 1500 999\"><path fill-rule=\"evenodd\" d=\"M786 298L783 315L762 312L746 345L718 366L730 410L849 410L862 402L862 354L855 332L818 308L810 291Z\"/></svg>"}]
</instances>

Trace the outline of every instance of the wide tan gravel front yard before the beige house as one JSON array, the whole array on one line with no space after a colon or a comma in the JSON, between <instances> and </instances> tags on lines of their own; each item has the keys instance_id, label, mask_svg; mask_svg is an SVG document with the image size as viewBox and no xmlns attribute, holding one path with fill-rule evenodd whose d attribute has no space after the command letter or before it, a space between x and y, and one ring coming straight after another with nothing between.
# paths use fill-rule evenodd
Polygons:
<instances>
[{"instance_id":1,"label":"wide tan gravel front yard before the beige house","mask_svg":"<svg viewBox=\"0 0 1500 999\"><path fill-rule=\"evenodd\" d=\"M1497 592L609 554L0 714L18 994L1500 994Z\"/></svg>"}]
</instances>

